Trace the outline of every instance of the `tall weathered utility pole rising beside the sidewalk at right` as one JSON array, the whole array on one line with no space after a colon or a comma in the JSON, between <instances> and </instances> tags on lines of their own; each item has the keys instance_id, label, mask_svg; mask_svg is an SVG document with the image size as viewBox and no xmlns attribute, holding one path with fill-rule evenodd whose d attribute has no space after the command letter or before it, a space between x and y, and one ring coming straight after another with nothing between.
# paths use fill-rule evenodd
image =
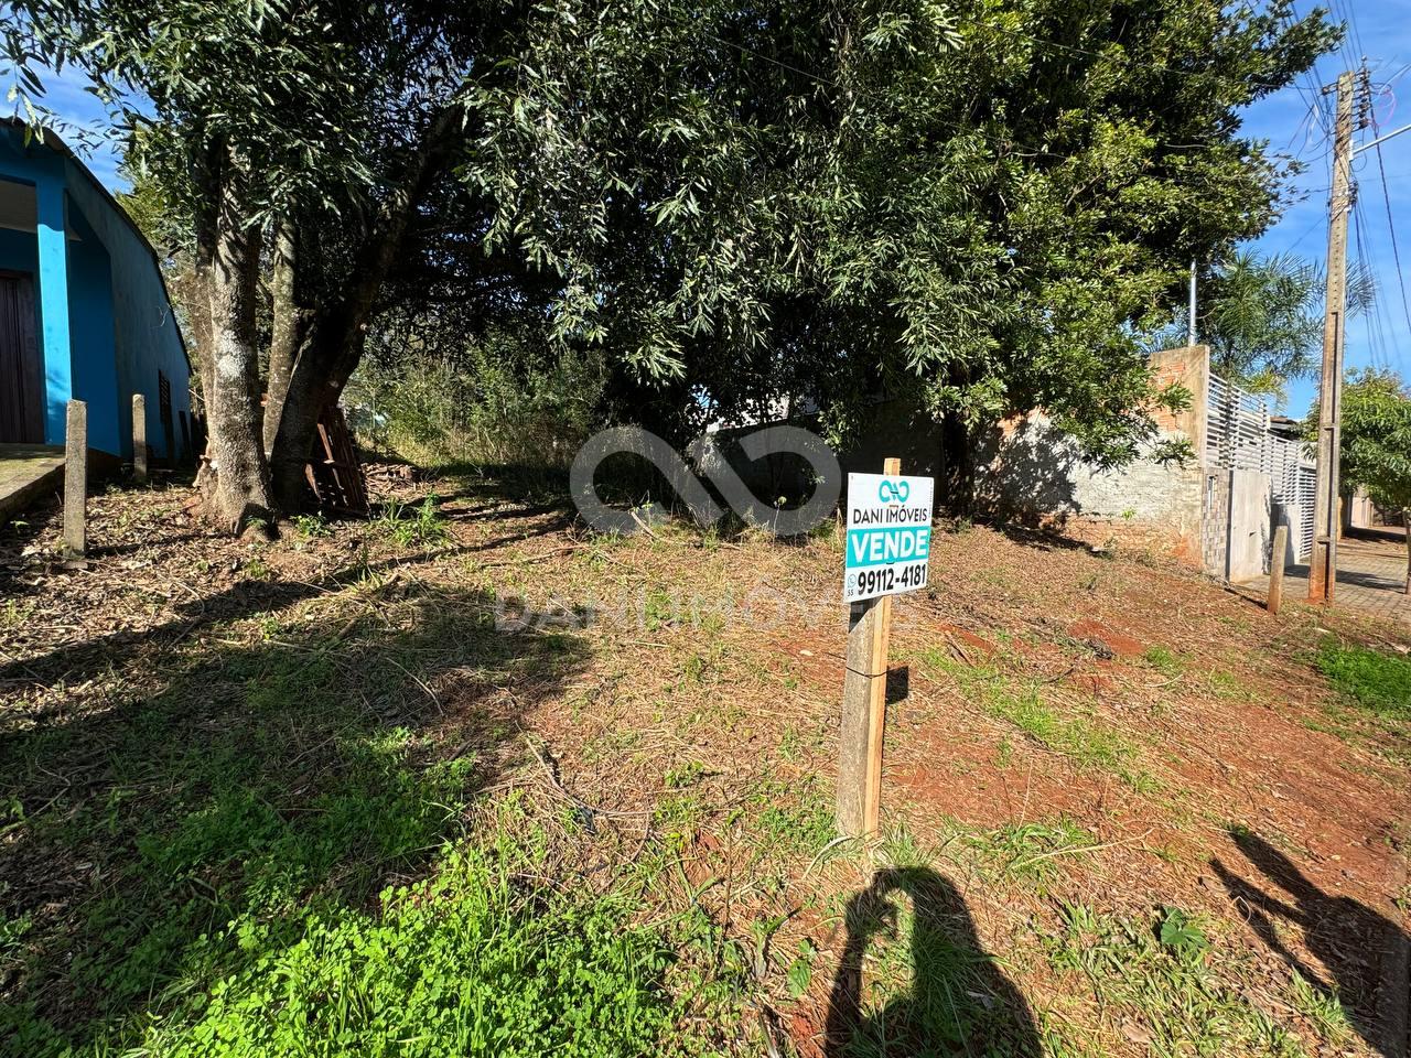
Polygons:
<instances>
[{"instance_id":1,"label":"tall weathered utility pole rising beside the sidewalk at right","mask_svg":"<svg viewBox=\"0 0 1411 1058\"><path fill-rule=\"evenodd\" d=\"M1326 89L1325 89L1326 92ZM1332 203L1328 224L1328 296L1324 364L1318 387L1318 491L1308 601L1332 602L1338 584L1338 460L1342 447L1342 343L1348 302L1348 213L1352 212L1353 75L1338 78L1338 121L1332 141Z\"/></svg>"}]
</instances>

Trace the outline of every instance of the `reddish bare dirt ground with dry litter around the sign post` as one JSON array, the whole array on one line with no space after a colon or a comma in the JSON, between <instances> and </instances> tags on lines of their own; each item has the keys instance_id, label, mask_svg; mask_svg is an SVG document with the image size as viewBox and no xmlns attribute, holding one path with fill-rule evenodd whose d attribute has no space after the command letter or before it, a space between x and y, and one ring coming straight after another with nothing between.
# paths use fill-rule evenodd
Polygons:
<instances>
[{"instance_id":1,"label":"reddish bare dirt ground with dry litter around the sign post","mask_svg":"<svg viewBox=\"0 0 1411 1058\"><path fill-rule=\"evenodd\" d=\"M408 508L274 545L209 535L185 490L111 491L85 568L54 557L54 511L0 530L11 1003L73 1038L159 1007L141 968L109 1002L111 975L87 989L58 965L151 848L134 805L152 834L164 797L168 827L183 811L176 780L124 763L126 710L158 703L199 748L236 722L264 738L270 700L332 687L413 731L419 766L476 762L459 839L526 798L563 849L533 884L607 890L649 861L645 918L707 916L722 940L698 972L735 961L744 982L728 1019L679 1026L707 1050L1401 1052L1405 996L1383 982L1404 972L1411 738L1318 657L1400 657L1404 626L1297 604L1273 619L1160 559L948 525L930 588L896 605L885 837L861 848L831 828L835 535L601 537L552 499L435 487L435 512L404 482L382 498ZM231 688L238 712L203 711ZM336 732L279 732L293 818ZM90 817L106 838L73 831Z\"/></svg>"}]
</instances>

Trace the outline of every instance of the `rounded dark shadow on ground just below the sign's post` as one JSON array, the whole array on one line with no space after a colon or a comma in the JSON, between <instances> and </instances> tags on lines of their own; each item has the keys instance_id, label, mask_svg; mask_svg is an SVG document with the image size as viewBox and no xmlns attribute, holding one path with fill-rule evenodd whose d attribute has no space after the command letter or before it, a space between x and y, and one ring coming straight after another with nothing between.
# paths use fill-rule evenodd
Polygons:
<instances>
[{"instance_id":1,"label":"rounded dark shadow on ground just below the sign's post","mask_svg":"<svg viewBox=\"0 0 1411 1058\"><path fill-rule=\"evenodd\" d=\"M899 904L899 894L907 900ZM965 900L941 875L930 868L879 870L848 901L845 924L828 1002L830 1058L1038 1058L1029 1004L981 947ZM899 989L907 966L910 987Z\"/></svg>"}]
</instances>

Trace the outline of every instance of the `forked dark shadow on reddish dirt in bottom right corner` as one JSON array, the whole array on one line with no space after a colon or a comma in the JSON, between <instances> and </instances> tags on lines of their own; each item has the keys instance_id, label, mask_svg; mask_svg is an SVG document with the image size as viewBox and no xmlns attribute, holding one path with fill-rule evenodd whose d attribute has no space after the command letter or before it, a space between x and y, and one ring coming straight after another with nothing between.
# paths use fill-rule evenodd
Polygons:
<instances>
[{"instance_id":1,"label":"forked dark shadow on reddish dirt in bottom right corner","mask_svg":"<svg viewBox=\"0 0 1411 1058\"><path fill-rule=\"evenodd\" d=\"M1212 859L1211 868L1249 927L1312 987L1324 995L1336 995L1348 1013L1349 1024L1369 1045L1388 1058L1405 1054L1405 1041L1390 1040L1387 1034L1404 1031L1407 997L1377 995L1387 959L1394 958L1397 947L1405 942L1401 928L1357 900L1324 893L1288 856L1257 834L1239 831L1233 839L1249 862L1287 894L1283 899L1266 892L1219 859ZM1331 978L1309 966L1284 944L1283 935L1290 925L1302 930L1308 951L1329 968ZM1404 979L1401 986L1405 986ZM1388 1019L1391 1010L1379 1009L1387 1004L1400 1009L1403 1014ZM1388 1021L1400 1021L1400 1030Z\"/></svg>"}]
</instances>

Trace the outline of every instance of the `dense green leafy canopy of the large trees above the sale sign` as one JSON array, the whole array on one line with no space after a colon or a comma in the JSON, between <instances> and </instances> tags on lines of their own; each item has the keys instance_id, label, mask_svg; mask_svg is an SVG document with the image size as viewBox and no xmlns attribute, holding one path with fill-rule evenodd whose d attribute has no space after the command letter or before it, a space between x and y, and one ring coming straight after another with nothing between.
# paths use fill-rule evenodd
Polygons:
<instances>
[{"instance_id":1,"label":"dense green leafy canopy of the large trees above the sale sign","mask_svg":"<svg viewBox=\"0 0 1411 1058\"><path fill-rule=\"evenodd\" d=\"M542 18L476 102L470 175L498 189L491 244L563 276L555 333L619 355L635 413L689 432L807 395L841 434L904 391L968 425L1044 406L1108 461L1153 436L1133 333L1178 262L1274 214L1237 109L1336 39L1285 0Z\"/></svg>"}]
</instances>

